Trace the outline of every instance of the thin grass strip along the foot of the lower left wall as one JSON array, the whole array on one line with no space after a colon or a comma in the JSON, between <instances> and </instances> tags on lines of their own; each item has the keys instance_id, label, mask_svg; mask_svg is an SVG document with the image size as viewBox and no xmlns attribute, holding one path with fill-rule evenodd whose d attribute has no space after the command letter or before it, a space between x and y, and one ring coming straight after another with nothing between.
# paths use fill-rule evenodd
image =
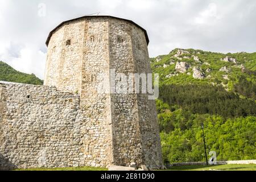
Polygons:
<instances>
[{"instance_id":1,"label":"thin grass strip along the foot of the lower left wall","mask_svg":"<svg viewBox=\"0 0 256 182\"><path fill-rule=\"evenodd\" d=\"M100 168L100 167L67 167L67 168L15 169L14 171L108 171L108 169Z\"/></svg>"}]
</instances>

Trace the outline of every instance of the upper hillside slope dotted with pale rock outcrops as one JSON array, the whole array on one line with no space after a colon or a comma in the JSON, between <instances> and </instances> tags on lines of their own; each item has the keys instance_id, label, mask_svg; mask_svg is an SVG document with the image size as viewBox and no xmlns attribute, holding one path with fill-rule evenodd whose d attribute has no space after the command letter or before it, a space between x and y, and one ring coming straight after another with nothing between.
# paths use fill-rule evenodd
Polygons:
<instances>
[{"instance_id":1,"label":"upper hillside slope dotted with pale rock outcrops","mask_svg":"<svg viewBox=\"0 0 256 182\"><path fill-rule=\"evenodd\" d=\"M215 53L196 49L174 49L168 55L151 59L160 84L206 82L228 89L238 76L255 80L256 53ZM231 88L230 88L231 89Z\"/></svg>"}]
</instances>

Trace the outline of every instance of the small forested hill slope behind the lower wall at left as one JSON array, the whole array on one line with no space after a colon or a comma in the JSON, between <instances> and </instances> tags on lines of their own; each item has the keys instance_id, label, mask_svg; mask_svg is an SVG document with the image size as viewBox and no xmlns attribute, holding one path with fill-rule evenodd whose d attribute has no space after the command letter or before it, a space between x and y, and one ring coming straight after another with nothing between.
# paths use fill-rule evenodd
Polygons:
<instances>
[{"instance_id":1,"label":"small forested hill slope behind the lower wall at left","mask_svg":"<svg viewBox=\"0 0 256 182\"><path fill-rule=\"evenodd\" d=\"M34 74L26 74L16 71L10 65L0 61L0 81L18 82L22 84L43 85L43 80L40 80Z\"/></svg>"}]
</instances>

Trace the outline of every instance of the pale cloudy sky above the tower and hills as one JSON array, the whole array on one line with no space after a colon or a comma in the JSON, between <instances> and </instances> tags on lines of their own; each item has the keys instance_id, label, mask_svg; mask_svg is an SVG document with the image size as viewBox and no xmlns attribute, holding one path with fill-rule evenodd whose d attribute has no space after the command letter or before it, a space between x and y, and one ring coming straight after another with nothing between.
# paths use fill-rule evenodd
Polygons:
<instances>
[{"instance_id":1,"label":"pale cloudy sky above the tower and hills","mask_svg":"<svg viewBox=\"0 0 256 182\"><path fill-rule=\"evenodd\" d=\"M151 57L174 48L256 52L255 0L0 0L0 60L43 78L49 31L98 12L145 28Z\"/></svg>"}]
</instances>

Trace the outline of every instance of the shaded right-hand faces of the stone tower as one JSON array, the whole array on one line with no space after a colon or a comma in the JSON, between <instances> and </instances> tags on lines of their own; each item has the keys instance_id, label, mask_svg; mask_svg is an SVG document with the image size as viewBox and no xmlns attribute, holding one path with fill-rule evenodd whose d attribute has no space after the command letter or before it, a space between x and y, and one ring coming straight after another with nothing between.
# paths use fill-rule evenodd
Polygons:
<instances>
[{"instance_id":1,"label":"shaded right-hand faces of the stone tower","mask_svg":"<svg viewBox=\"0 0 256 182\"><path fill-rule=\"evenodd\" d=\"M126 76L151 73L147 42L141 28L122 20L110 21L110 69ZM111 94L116 165L127 166L135 162L149 168L162 166L155 101L148 100L147 96L141 93Z\"/></svg>"}]
</instances>

